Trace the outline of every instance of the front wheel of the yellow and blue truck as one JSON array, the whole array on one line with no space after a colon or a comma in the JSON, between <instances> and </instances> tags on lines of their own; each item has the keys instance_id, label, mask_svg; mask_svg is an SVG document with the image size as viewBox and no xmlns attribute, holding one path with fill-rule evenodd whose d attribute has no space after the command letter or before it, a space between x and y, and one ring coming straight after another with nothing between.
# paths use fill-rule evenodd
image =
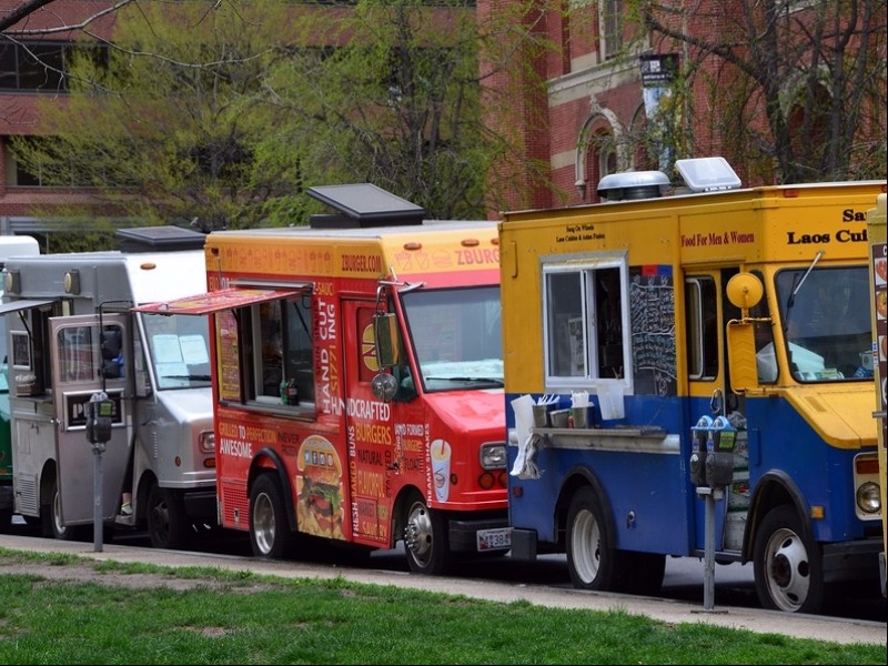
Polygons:
<instances>
[{"instance_id":1,"label":"front wheel of the yellow and blue truck","mask_svg":"<svg viewBox=\"0 0 888 666\"><path fill-rule=\"evenodd\" d=\"M756 593L763 608L819 613L825 601L820 546L801 536L791 506L773 508L756 529L753 553Z\"/></svg>"}]
</instances>

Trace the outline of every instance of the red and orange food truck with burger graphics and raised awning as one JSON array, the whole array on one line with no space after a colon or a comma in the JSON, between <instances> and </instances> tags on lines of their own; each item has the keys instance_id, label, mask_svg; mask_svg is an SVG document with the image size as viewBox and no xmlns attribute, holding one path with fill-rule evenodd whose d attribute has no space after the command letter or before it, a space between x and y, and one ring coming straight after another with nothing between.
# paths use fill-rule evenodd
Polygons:
<instances>
[{"instance_id":1,"label":"red and orange food truck with burger graphics and raised awning","mask_svg":"<svg viewBox=\"0 0 888 666\"><path fill-rule=\"evenodd\" d=\"M339 213L222 231L208 293L218 508L258 556L403 541L411 569L511 546L495 222L427 221L370 184Z\"/></svg>"}]
</instances>

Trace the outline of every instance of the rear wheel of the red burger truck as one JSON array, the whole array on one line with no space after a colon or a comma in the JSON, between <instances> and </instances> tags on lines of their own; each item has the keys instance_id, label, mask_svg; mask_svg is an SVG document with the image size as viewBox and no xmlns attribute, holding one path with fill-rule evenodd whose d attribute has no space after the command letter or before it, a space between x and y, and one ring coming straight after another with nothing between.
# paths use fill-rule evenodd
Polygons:
<instances>
[{"instance_id":1,"label":"rear wheel of the red burger truck","mask_svg":"<svg viewBox=\"0 0 888 666\"><path fill-rule=\"evenodd\" d=\"M272 474L262 474L250 491L250 545L253 555L282 559L293 551L295 536L286 523L286 507L281 483Z\"/></svg>"}]
</instances>

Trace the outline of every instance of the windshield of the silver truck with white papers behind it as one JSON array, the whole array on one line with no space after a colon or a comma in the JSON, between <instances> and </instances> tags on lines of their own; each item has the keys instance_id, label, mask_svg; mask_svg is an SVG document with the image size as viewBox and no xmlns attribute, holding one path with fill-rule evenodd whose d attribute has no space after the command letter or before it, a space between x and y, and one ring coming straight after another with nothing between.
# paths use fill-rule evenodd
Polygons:
<instances>
[{"instance_id":1,"label":"windshield of the silver truck with white papers behind it","mask_svg":"<svg viewBox=\"0 0 888 666\"><path fill-rule=\"evenodd\" d=\"M206 317L140 313L158 391L211 385Z\"/></svg>"}]
</instances>

